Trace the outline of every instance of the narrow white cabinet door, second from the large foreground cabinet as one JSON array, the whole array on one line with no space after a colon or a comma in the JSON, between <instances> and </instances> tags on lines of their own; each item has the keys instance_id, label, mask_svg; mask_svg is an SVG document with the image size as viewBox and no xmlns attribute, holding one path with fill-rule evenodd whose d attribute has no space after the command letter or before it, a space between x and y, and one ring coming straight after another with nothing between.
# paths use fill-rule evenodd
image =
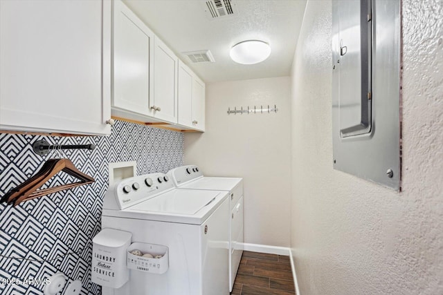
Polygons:
<instances>
[{"instance_id":1,"label":"narrow white cabinet door, second from the large foreground cabinet","mask_svg":"<svg viewBox=\"0 0 443 295\"><path fill-rule=\"evenodd\" d=\"M154 117L177 123L177 75L179 59L159 38L154 49Z\"/></svg>"}]
</instances>

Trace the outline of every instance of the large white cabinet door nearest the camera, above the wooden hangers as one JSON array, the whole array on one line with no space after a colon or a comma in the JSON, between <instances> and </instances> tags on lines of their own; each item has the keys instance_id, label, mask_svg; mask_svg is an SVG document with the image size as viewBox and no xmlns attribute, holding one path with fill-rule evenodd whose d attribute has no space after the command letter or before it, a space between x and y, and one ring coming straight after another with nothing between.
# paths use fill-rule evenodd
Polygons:
<instances>
[{"instance_id":1,"label":"large white cabinet door nearest the camera, above the wooden hangers","mask_svg":"<svg viewBox=\"0 0 443 295\"><path fill-rule=\"evenodd\" d=\"M109 134L110 32L109 1L0 1L0 129Z\"/></svg>"}]
</instances>

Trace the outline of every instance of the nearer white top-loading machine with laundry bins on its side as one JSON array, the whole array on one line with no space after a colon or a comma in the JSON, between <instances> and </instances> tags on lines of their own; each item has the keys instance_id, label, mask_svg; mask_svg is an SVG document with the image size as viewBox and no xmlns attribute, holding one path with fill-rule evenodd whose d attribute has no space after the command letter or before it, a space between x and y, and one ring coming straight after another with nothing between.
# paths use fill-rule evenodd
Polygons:
<instances>
[{"instance_id":1,"label":"nearer white top-loading machine with laundry bins on its side","mask_svg":"<svg viewBox=\"0 0 443 295\"><path fill-rule=\"evenodd\" d=\"M125 285L102 287L102 294L229 294L228 211L226 191L177 189L163 173L127 178L110 187L102 229L131 233L132 245L168 247L168 270L152 274L138 266L142 270L130 269ZM127 258L129 265L129 254Z\"/></svg>"}]
</instances>

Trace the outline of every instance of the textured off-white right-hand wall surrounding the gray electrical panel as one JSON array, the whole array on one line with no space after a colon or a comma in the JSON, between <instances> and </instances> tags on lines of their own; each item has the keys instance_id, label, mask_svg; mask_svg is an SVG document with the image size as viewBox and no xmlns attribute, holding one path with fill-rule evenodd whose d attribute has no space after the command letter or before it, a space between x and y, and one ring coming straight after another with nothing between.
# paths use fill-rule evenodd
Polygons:
<instances>
[{"instance_id":1,"label":"textured off-white right-hand wall surrounding the gray electrical panel","mask_svg":"<svg viewBox=\"0 0 443 295\"><path fill-rule=\"evenodd\" d=\"M403 191L332 169L331 2L308 1L292 77L300 294L443 294L443 1L402 1Z\"/></svg>"}]
</instances>

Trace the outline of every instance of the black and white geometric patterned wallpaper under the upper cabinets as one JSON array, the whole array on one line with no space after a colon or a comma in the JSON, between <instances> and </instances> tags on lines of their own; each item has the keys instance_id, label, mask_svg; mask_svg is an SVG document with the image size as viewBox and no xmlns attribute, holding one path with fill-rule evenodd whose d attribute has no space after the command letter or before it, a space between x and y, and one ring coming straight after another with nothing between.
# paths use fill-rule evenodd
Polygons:
<instances>
[{"instance_id":1,"label":"black and white geometric patterned wallpaper under the upper cabinets","mask_svg":"<svg viewBox=\"0 0 443 295\"><path fill-rule=\"evenodd\" d=\"M108 163L136 161L138 175L165 173L183 164L183 133L123 121L116 121L111 129L109 136L87 137L0 133L0 197L30 178L49 158L60 158L55 153L44 157L35 154L32 144L36 140L96 144L93 151L68 150L62 154L96 182L17 207L0 204L0 294L43 294L44 285L39 280L57 272L68 278L66 286L81 280L81 294L100 294L100 286L91 282L92 238L100 231L103 197L109 186ZM72 180L60 172L47 186Z\"/></svg>"}]
</instances>

